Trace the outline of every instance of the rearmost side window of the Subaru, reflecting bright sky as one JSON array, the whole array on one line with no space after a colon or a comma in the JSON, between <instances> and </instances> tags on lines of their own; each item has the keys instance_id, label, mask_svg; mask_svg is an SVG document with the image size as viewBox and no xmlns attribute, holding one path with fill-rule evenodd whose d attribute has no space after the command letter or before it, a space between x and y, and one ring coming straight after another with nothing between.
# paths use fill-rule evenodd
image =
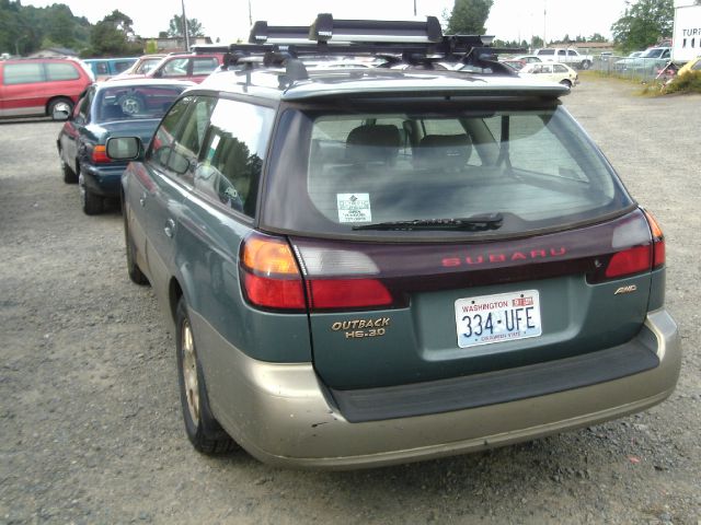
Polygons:
<instances>
[{"instance_id":1,"label":"rearmost side window of the Subaru, reflecting bright sky","mask_svg":"<svg viewBox=\"0 0 701 525\"><path fill-rule=\"evenodd\" d=\"M253 217L275 110L220 100L195 173L195 189Z\"/></svg>"}]
</instances>

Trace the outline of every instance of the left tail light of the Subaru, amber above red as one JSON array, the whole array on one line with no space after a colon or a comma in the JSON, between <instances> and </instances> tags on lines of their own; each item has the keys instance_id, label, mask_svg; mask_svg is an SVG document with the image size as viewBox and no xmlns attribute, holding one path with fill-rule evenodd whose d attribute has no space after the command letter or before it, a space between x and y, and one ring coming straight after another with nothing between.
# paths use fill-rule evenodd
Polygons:
<instances>
[{"instance_id":1,"label":"left tail light of the Subaru, amber above red","mask_svg":"<svg viewBox=\"0 0 701 525\"><path fill-rule=\"evenodd\" d=\"M345 260L353 262L352 254L347 254ZM343 261L336 261L338 266L343 265ZM302 279L289 244L280 237L251 235L243 243L241 262L245 296L262 308L299 312L309 307L315 312L368 310L393 304L392 294L378 279L356 275L338 278L323 271L315 275L307 271ZM312 267L320 269L314 264ZM353 273L350 268L346 270Z\"/></svg>"}]
</instances>

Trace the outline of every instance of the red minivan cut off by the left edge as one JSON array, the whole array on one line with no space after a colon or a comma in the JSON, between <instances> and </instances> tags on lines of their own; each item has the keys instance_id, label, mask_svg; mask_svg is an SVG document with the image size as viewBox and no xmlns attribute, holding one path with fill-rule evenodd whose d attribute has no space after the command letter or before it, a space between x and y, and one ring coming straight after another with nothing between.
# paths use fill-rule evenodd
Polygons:
<instances>
[{"instance_id":1,"label":"red minivan cut off by the left edge","mask_svg":"<svg viewBox=\"0 0 701 525\"><path fill-rule=\"evenodd\" d=\"M94 82L90 68L70 58L0 61L0 118L72 113L80 94Z\"/></svg>"}]
</instances>

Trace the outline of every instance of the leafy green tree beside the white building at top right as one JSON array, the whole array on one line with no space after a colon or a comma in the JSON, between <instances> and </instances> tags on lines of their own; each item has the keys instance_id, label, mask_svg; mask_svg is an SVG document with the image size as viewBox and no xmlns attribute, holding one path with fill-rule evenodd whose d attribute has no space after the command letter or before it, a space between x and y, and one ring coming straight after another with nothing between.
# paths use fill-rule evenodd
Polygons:
<instances>
[{"instance_id":1,"label":"leafy green tree beside the white building at top right","mask_svg":"<svg viewBox=\"0 0 701 525\"><path fill-rule=\"evenodd\" d=\"M674 0L637 0L611 25L613 40L623 52L643 49L671 36Z\"/></svg>"}]
</instances>

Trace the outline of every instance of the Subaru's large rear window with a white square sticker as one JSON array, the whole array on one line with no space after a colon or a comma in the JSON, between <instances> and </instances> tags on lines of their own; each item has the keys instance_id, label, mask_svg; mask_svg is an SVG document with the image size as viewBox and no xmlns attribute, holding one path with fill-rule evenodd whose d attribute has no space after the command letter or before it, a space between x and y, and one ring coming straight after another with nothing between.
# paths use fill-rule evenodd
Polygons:
<instances>
[{"instance_id":1,"label":"Subaru's large rear window with a white square sticker","mask_svg":"<svg viewBox=\"0 0 701 525\"><path fill-rule=\"evenodd\" d=\"M354 226L501 213L490 234L507 235L593 221L631 203L561 107L288 118L280 140L292 133L302 142L283 148L269 172L264 222L275 228L374 235ZM294 159L300 151L304 163Z\"/></svg>"}]
</instances>

